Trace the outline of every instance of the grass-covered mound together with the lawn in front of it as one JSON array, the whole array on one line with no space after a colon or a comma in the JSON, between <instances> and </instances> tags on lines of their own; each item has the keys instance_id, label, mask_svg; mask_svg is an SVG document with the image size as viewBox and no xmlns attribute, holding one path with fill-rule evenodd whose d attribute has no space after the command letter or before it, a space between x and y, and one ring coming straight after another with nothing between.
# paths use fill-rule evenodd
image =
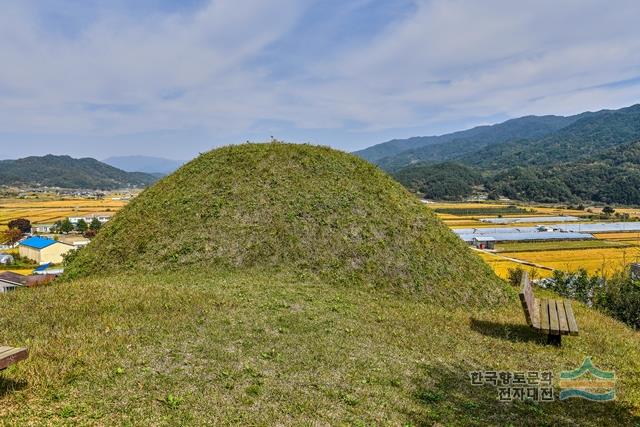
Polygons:
<instances>
[{"instance_id":1,"label":"grass-covered mound together with the lawn in front of it","mask_svg":"<svg viewBox=\"0 0 640 427\"><path fill-rule=\"evenodd\" d=\"M205 154L131 203L71 277L0 297L9 425L634 425L640 339L519 302L377 169L285 144ZM615 370L617 400L500 403L473 370Z\"/></svg>"}]
</instances>

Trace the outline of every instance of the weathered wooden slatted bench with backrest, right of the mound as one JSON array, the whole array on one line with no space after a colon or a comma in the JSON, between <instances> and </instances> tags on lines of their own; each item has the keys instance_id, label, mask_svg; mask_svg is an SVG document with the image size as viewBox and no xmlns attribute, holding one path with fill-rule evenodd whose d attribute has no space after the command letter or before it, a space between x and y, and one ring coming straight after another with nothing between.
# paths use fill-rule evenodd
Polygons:
<instances>
[{"instance_id":1,"label":"weathered wooden slatted bench with backrest, right of the mound","mask_svg":"<svg viewBox=\"0 0 640 427\"><path fill-rule=\"evenodd\" d=\"M562 335L578 335L578 323L567 300L537 299L527 272L522 273L520 301L527 323L549 336L549 343L560 345Z\"/></svg>"}]
</instances>

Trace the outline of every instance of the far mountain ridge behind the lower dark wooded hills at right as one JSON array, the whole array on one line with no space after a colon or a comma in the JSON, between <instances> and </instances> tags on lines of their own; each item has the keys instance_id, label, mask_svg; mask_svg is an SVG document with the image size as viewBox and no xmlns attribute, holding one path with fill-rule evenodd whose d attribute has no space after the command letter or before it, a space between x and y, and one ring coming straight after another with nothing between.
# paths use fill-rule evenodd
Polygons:
<instances>
[{"instance_id":1,"label":"far mountain ridge behind the lower dark wooded hills at right","mask_svg":"<svg viewBox=\"0 0 640 427\"><path fill-rule=\"evenodd\" d=\"M447 135L389 141L355 154L388 171L449 160L502 168L574 161L636 140L640 104L570 117L521 117Z\"/></svg>"}]
</instances>

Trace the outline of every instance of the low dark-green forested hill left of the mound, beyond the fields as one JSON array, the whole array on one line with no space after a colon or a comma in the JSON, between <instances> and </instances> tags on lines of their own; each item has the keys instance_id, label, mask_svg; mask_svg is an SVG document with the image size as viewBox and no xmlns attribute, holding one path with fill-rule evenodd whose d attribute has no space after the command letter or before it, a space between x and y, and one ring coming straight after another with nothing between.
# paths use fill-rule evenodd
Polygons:
<instances>
[{"instance_id":1,"label":"low dark-green forested hill left of the mound, beyond the fields","mask_svg":"<svg viewBox=\"0 0 640 427\"><path fill-rule=\"evenodd\" d=\"M155 180L153 175L125 172L91 158L49 154L0 161L0 185L111 190L143 187Z\"/></svg>"}]
</instances>

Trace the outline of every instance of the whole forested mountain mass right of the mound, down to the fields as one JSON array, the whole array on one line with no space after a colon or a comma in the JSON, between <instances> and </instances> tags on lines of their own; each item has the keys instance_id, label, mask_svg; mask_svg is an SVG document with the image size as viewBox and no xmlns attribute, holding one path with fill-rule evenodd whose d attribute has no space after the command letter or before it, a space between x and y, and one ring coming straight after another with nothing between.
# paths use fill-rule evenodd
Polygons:
<instances>
[{"instance_id":1,"label":"whole forested mountain mass right of the mound, down to the fields","mask_svg":"<svg viewBox=\"0 0 640 427\"><path fill-rule=\"evenodd\" d=\"M355 154L430 198L460 199L482 189L540 202L640 204L640 105L521 117Z\"/></svg>"}]
</instances>

